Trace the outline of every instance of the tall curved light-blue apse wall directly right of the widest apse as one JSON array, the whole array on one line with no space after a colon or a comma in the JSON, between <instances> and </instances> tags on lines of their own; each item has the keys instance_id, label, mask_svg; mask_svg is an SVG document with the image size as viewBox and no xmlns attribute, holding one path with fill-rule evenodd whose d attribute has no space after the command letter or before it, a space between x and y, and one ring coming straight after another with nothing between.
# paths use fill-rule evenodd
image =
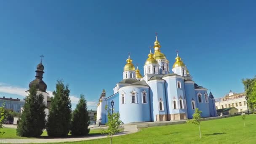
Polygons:
<instances>
[{"instance_id":1,"label":"tall curved light-blue apse wall directly right of the widest apse","mask_svg":"<svg viewBox=\"0 0 256 144\"><path fill-rule=\"evenodd\" d=\"M150 86L151 120L157 121L157 115L167 114L164 80L150 80L148 85ZM160 102L162 102L163 110L160 110Z\"/></svg>"}]
</instances>

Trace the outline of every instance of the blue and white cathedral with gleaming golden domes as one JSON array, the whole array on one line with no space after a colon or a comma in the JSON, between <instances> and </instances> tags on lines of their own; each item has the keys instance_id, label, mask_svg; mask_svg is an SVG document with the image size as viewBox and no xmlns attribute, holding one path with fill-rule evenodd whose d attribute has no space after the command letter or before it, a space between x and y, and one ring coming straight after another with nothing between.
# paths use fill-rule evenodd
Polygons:
<instances>
[{"instance_id":1,"label":"blue and white cathedral with gleaming golden domes","mask_svg":"<svg viewBox=\"0 0 256 144\"><path fill-rule=\"evenodd\" d=\"M97 124L107 123L107 110L120 113L123 123L191 119L195 108L202 117L215 117L214 97L197 85L177 53L170 72L169 61L160 51L156 40L154 53L150 51L144 64L144 76L135 69L128 56L123 68L123 80L115 85L114 94L106 96L103 90L97 105Z\"/></svg>"}]
</instances>

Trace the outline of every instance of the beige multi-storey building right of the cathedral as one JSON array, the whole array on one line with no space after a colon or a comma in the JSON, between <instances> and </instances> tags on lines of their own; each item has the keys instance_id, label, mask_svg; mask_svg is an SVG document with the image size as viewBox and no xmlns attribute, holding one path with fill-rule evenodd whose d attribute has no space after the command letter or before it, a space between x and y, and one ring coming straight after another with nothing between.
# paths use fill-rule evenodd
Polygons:
<instances>
[{"instance_id":1,"label":"beige multi-storey building right of the cathedral","mask_svg":"<svg viewBox=\"0 0 256 144\"><path fill-rule=\"evenodd\" d=\"M245 93L233 93L231 90L224 97L215 99L216 109L235 107L238 112L247 112Z\"/></svg>"}]
</instances>

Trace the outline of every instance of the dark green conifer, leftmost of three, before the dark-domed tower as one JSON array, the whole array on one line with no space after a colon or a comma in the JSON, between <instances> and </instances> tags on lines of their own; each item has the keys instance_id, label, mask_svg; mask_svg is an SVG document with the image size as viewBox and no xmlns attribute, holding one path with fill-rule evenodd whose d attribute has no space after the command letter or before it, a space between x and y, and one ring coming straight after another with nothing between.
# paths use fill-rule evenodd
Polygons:
<instances>
[{"instance_id":1,"label":"dark green conifer, leftmost of three, before the dark-domed tower","mask_svg":"<svg viewBox=\"0 0 256 144\"><path fill-rule=\"evenodd\" d=\"M16 134L26 137L41 136L46 122L44 110L43 95L37 94L35 85L33 85L29 89L29 95L25 99Z\"/></svg>"}]
</instances>

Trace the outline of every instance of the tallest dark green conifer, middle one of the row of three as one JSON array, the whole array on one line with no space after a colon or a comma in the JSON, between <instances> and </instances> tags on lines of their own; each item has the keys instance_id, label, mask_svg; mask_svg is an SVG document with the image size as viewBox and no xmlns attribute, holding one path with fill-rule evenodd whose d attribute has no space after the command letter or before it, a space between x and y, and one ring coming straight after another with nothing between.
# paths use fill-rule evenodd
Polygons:
<instances>
[{"instance_id":1,"label":"tallest dark green conifer, middle one of the row of three","mask_svg":"<svg viewBox=\"0 0 256 144\"><path fill-rule=\"evenodd\" d=\"M71 101L68 85L57 81L56 91L53 91L51 107L49 109L46 130L48 136L67 136L71 122Z\"/></svg>"}]
</instances>

